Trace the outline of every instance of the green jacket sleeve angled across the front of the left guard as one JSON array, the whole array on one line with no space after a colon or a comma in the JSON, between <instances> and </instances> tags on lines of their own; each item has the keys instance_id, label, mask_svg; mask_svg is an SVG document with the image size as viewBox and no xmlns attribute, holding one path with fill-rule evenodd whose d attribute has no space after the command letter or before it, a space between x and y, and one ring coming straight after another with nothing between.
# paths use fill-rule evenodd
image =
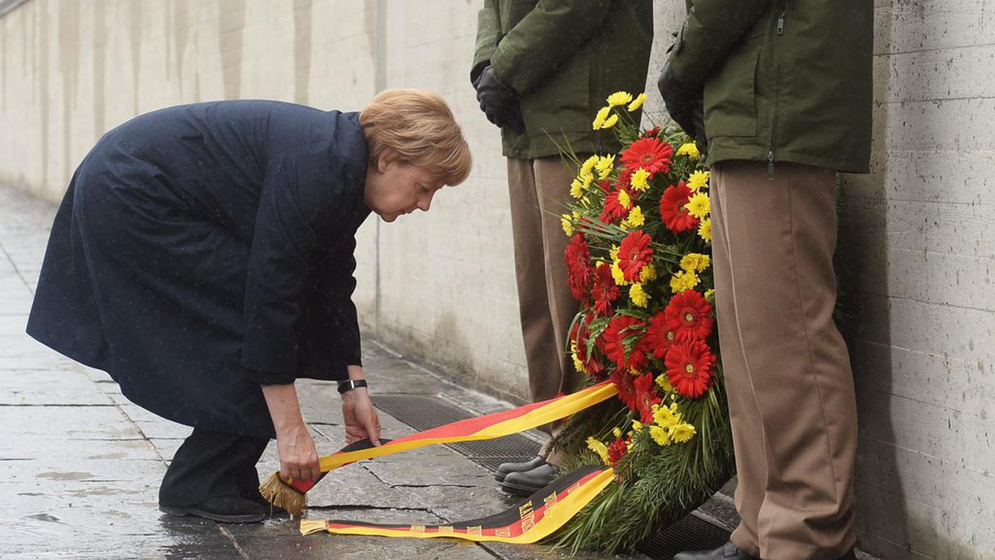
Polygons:
<instances>
[{"instance_id":1,"label":"green jacket sleeve angled across the front of the left guard","mask_svg":"<svg viewBox=\"0 0 995 560\"><path fill-rule=\"evenodd\" d=\"M539 0L491 57L497 76L524 94L569 59L601 26L612 0Z\"/></svg>"}]
</instances>

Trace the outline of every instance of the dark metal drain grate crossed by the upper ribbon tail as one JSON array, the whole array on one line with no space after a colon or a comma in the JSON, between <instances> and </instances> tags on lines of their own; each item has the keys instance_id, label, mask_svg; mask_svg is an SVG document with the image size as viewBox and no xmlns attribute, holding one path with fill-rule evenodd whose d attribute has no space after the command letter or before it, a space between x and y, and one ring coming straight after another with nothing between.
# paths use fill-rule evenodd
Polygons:
<instances>
[{"instance_id":1,"label":"dark metal drain grate crossed by the upper ribbon tail","mask_svg":"<svg viewBox=\"0 0 995 560\"><path fill-rule=\"evenodd\" d=\"M377 395L374 405L418 430L474 417L469 411L438 397L423 395ZM502 462L527 459L539 452L538 443L517 434L481 441L446 443L446 446L492 472L497 471L497 465Z\"/></svg>"}]
</instances>

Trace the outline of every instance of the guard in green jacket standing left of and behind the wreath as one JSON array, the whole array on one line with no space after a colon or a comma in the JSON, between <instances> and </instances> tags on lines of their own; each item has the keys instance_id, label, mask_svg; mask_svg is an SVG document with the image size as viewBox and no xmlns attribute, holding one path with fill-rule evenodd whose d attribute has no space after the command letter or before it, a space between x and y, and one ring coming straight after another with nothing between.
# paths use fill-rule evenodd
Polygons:
<instances>
[{"instance_id":1,"label":"guard in green jacket standing left of and behind the wreath","mask_svg":"<svg viewBox=\"0 0 995 560\"><path fill-rule=\"evenodd\" d=\"M564 352L577 303L566 282L567 237L559 215L573 173L560 159L615 153L611 132L591 122L607 97L642 92L653 42L651 0L485 0L471 80L507 157L515 272L529 389L534 401L571 393L577 373ZM635 116L639 119L639 116ZM550 427L550 430L555 427ZM498 467L508 492L528 495L555 477L557 457Z\"/></svg>"}]
</instances>

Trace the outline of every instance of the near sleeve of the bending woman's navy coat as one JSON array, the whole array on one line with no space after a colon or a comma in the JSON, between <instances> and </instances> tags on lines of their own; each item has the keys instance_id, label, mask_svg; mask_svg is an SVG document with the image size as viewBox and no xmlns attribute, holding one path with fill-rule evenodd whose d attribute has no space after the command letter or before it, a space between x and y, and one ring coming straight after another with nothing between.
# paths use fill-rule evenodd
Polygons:
<instances>
[{"instance_id":1,"label":"near sleeve of the bending woman's navy coat","mask_svg":"<svg viewBox=\"0 0 995 560\"><path fill-rule=\"evenodd\" d=\"M284 152L266 169L246 277L241 362L261 383L290 383L298 367L295 327L316 245L312 224L327 207L320 165ZM326 197L327 194L324 194Z\"/></svg>"}]
</instances>

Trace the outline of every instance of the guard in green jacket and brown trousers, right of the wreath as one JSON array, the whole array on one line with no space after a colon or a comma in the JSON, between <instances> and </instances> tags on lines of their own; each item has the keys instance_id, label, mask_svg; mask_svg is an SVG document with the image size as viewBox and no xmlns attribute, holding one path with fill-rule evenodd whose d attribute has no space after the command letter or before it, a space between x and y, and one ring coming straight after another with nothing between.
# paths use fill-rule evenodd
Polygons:
<instances>
[{"instance_id":1,"label":"guard in green jacket and brown trousers, right of the wreath","mask_svg":"<svg viewBox=\"0 0 995 560\"><path fill-rule=\"evenodd\" d=\"M874 3L689 0L659 87L706 145L741 522L675 560L854 559L857 408L836 175L868 172Z\"/></svg>"}]
</instances>

